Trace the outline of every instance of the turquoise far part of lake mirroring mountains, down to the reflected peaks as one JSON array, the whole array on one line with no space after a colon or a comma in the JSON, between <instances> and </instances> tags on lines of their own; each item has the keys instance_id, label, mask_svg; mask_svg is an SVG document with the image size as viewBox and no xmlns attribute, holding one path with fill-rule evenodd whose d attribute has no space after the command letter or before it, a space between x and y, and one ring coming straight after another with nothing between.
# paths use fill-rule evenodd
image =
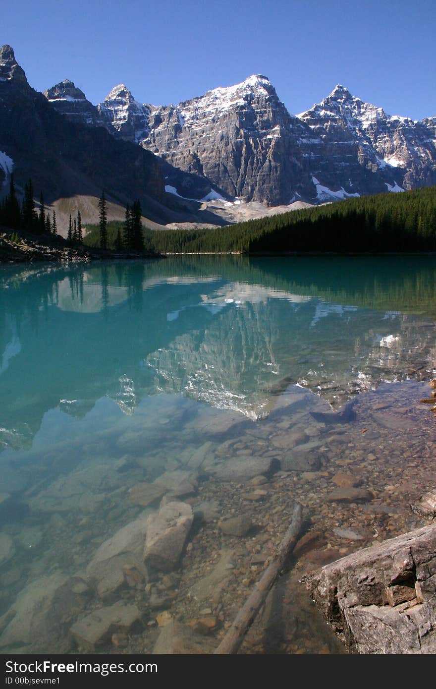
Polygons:
<instances>
[{"instance_id":1,"label":"turquoise far part of lake mirroring mountains, down to the reflected peaks","mask_svg":"<svg viewBox=\"0 0 436 689\"><path fill-rule=\"evenodd\" d=\"M183 394L256 420L289 384L338 406L435 360L432 258L167 258L2 267L0 438L50 409Z\"/></svg>"}]
</instances>

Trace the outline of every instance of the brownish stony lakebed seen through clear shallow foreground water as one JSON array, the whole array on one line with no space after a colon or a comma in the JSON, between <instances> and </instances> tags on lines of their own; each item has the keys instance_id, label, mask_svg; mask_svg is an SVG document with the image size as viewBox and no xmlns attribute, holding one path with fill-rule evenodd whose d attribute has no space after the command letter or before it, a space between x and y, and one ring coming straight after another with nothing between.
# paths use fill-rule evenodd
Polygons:
<instances>
[{"instance_id":1,"label":"brownish stony lakebed seen through clear shallow foreground water","mask_svg":"<svg viewBox=\"0 0 436 689\"><path fill-rule=\"evenodd\" d=\"M430 523L411 508L436 488L428 395L428 382L386 383L334 412L291 386L257 422L156 398L149 451L130 429L121 460L94 439L94 462L55 480L48 458L31 482L23 463L25 488L0 495L1 652L213 652L295 500L293 567L240 652L345 652L300 578Z\"/></svg>"}]
</instances>

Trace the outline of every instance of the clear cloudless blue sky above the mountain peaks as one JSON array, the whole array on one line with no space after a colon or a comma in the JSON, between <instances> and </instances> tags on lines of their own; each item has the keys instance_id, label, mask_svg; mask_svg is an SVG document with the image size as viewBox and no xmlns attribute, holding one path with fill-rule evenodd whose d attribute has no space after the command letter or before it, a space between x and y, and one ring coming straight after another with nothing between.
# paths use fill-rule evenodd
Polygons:
<instances>
[{"instance_id":1,"label":"clear cloudless blue sky above the mountain peaks","mask_svg":"<svg viewBox=\"0 0 436 689\"><path fill-rule=\"evenodd\" d=\"M72 79L93 103L125 83L178 103L264 74L291 112L337 83L390 114L436 114L434 0L20 0L2 3L30 84Z\"/></svg>"}]
</instances>

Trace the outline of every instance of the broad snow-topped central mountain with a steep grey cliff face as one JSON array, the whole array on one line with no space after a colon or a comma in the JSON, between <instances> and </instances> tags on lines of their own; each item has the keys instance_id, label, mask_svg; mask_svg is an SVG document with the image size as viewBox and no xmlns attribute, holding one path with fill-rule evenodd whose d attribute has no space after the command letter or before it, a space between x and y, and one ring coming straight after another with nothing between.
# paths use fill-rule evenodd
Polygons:
<instances>
[{"instance_id":1,"label":"broad snow-topped central mountain with a steep grey cliff face","mask_svg":"<svg viewBox=\"0 0 436 689\"><path fill-rule=\"evenodd\" d=\"M150 107L143 146L175 167L205 176L229 198L267 205L311 196L299 139L307 127L287 112L264 76L177 106Z\"/></svg>"}]
</instances>

